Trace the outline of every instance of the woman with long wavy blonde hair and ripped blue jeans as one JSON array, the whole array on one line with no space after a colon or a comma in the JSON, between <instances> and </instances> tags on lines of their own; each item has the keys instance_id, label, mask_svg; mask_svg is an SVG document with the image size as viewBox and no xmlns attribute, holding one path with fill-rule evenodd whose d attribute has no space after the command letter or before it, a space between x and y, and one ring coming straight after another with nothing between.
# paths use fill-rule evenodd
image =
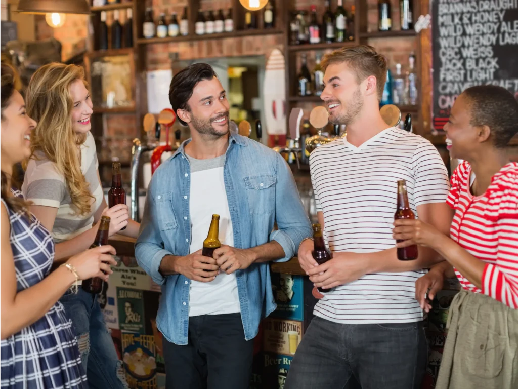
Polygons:
<instances>
[{"instance_id":1,"label":"woman with long wavy blonde hair and ripped blue jeans","mask_svg":"<svg viewBox=\"0 0 518 389\"><path fill-rule=\"evenodd\" d=\"M139 225L129 219L127 206L108 209L104 200L90 133L92 101L82 68L61 63L42 66L26 95L27 113L38 124L22 191L33 202L31 212L52 231L56 264L90 247L101 215L111 218L110 236L127 226L120 232L136 238ZM72 319L90 387L126 387L97 296L80 289L60 301Z\"/></svg>"}]
</instances>

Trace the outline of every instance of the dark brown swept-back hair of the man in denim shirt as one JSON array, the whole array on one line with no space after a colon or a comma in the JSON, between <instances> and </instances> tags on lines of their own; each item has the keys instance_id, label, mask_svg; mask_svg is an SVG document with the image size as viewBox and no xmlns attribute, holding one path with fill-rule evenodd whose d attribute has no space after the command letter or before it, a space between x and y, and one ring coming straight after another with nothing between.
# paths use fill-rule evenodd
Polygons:
<instances>
[{"instance_id":1,"label":"dark brown swept-back hair of the man in denim shirt","mask_svg":"<svg viewBox=\"0 0 518 389\"><path fill-rule=\"evenodd\" d=\"M177 110L184 109L190 111L191 107L187 102L193 95L196 84L199 81L211 80L214 77L217 77L217 75L212 66L206 63L195 63L182 69L172 78L171 86L169 87L169 102L183 126L187 126L187 123L180 119Z\"/></svg>"}]
</instances>

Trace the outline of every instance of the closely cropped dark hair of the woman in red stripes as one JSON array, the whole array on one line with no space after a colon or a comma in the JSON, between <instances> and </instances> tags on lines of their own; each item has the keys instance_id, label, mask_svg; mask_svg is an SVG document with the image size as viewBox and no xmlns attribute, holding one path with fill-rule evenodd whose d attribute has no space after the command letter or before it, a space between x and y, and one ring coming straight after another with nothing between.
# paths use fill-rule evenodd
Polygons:
<instances>
[{"instance_id":1,"label":"closely cropped dark hair of the woman in red stripes","mask_svg":"<svg viewBox=\"0 0 518 389\"><path fill-rule=\"evenodd\" d=\"M471 126L487 126L497 148L505 148L518 133L518 102L507 89L496 85L479 85L462 94L468 101Z\"/></svg>"}]
</instances>

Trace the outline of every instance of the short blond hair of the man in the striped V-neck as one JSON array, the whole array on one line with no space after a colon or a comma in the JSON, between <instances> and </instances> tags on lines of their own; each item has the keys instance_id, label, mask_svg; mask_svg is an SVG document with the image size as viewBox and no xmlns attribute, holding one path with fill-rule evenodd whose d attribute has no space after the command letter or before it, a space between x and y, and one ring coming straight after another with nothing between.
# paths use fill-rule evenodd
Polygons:
<instances>
[{"instance_id":1,"label":"short blond hair of the man in the striped V-neck","mask_svg":"<svg viewBox=\"0 0 518 389\"><path fill-rule=\"evenodd\" d=\"M387 59L383 55L378 54L372 46L356 45L343 47L332 53L325 54L321 65L325 72L330 64L343 62L352 68L356 74L358 84L369 76L376 77L378 100L381 101L387 78L387 68L389 67Z\"/></svg>"}]
</instances>

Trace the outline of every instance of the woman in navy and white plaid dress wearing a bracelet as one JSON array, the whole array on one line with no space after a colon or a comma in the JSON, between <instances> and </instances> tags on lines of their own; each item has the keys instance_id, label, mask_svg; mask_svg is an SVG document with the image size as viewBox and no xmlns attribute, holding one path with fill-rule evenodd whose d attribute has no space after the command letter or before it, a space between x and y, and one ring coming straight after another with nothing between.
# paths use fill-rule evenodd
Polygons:
<instances>
[{"instance_id":1,"label":"woman in navy and white plaid dress wearing a bracelet","mask_svg":"<svg viewBox=\"0 0 518 389\"><path fill-rule=\"evenodd\" d=\"M50 271L52 237L10 189L12 166L31 155L35 125L11 68L0 64L0 388L88 388L70 319L57 301L79 279L107 279L115 252L97 247Z\"/></svg>"}]
</instances>

